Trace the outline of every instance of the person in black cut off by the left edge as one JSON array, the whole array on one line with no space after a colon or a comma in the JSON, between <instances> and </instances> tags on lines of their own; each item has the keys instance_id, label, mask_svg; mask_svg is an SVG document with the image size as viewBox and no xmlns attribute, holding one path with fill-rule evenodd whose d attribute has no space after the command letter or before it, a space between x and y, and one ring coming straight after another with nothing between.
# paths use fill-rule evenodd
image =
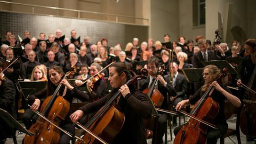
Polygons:
<instances>
[{"instance_id":1,"label":"person in black cut off by the left edge","mask_svg":"<svg viewBox=\"0 0 256 144\"><path fill-rule=\"evenodd\" d=\"M3 70L2 62L0 61L0 71ZM3 73L0 73L0 76L3 76ZM14 84L8 78L5 78L4 81L0 81L0 108L8 111L13 117L16 117L14 111L15 107L15 89ZM6 138L12 137L13 130L10 127L6 127L6 124L0 119L0 143L5 143Z\"/></svg>"}]
</instances>

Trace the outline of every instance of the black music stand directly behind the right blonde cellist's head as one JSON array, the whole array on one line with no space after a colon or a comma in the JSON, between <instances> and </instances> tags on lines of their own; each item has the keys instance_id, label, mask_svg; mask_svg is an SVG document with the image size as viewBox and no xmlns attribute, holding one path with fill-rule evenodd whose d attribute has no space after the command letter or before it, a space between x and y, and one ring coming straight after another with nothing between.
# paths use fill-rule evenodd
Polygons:
<instances>
[{"instance_id":1,"label":"black music stand directly behind the right blonde cellist's head","mask_svg":"<svg viewBox=\"0 0 256 144\"><path fill-rule=\"evenodd\" d=\"M202 63L203 63L204 66L215 65L220 70L222 70L223 68L228 68L230 74L235 74L235 75L238 74L238 72L234 69L234 67L231 66L230 63L228 63L228 61L226 61L226 60L202 61Z\"/></svg>"}]
</instances>

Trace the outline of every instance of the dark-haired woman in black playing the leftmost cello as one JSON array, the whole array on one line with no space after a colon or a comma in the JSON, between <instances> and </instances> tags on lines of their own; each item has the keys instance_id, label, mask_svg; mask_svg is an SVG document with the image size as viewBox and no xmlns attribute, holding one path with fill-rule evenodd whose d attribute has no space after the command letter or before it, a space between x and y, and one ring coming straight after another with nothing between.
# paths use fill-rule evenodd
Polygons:
<instances>
[{"instance_id":1,"label":"dark-haired woman in black playing the leftmost cello","mask_svg":"<svg viewBox=\"0 0 256 144\"><path fill-rule=\"evenodd\" d=\"M48 79L50 81L48 81L46 88L28 97L29 102L33 103L33 105L31 106L31 110L38 110L41 103L40 98L45 97L45 95L53 94L53 92L60 83L65 86L62 86L60 88L59 94L62 95L62 97L66 99L70 103L70 105L74 97L77 97L82 101L89 100L89 97L87 97L84 92L79 91L75 87L71 86L68 83L67 79L62 79L64 75L65 74L62 68L59 66L52 66L49 69ZM75 127L71 125L69 115L67 116L65 121L60 124L60 126L69 133L75 132ZM70 139L71 138L68 135L61 133L59 143L69 143Z\"/></svg>"}]
</instances>

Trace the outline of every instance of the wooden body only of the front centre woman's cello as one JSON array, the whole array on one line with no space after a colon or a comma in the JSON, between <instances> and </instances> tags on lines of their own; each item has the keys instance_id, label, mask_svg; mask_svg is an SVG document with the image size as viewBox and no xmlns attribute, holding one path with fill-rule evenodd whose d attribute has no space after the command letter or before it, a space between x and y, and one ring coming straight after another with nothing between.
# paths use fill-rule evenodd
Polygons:
<instances>
[{"instance_id":1,"label":"wooden body only of the front centre woman's cello","mask_svg":"<svg viewBox=\"0 0 256 144\"><path fill-rule=\"evenodd\" d=\"M102 107L103 108L103 107ZM102 108L99 110L101 111ZM97 114L96 114L97 115ZM104 115L99 117L90 127L89 130L93 132L98 137L102 138L107 142L111 142L114 140L116 135L122 129L124 124L125 116L119 111L114 105L110 105L108 110ZM83 138L84 141L77 140L76 144L82 143L101 143L97 139L95 139L89 133L85 133Z\"/></svg>"}]
</instances>

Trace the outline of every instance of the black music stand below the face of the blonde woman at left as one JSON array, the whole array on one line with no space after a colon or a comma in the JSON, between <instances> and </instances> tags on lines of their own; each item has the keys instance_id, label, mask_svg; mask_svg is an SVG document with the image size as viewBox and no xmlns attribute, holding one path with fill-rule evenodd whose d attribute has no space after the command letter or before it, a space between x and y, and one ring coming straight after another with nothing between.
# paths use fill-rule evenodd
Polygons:
<instances>
[{"instance_id":1,"label":"black music stand below the face of the blonde woman at left","mask_svg":"<svg viewBox=\"0 0 256 144\"><path fill-rule=\"evenodd\" d=\"M29 97L29 95L34 94L43 90L46 86L47 82L23 82L18 81L19 86L21 87L21 92L25 99ZM45 95L46 97L46 95Z\"/></svg>"}]
</instances>

